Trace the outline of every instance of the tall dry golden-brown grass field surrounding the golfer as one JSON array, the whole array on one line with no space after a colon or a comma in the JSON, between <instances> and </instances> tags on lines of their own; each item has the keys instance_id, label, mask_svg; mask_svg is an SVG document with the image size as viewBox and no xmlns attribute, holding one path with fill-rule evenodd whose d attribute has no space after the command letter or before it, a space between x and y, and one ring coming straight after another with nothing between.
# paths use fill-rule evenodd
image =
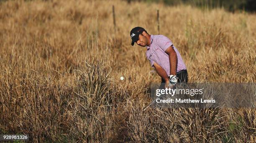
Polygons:
<instances>
[{"instance_id":1,"label":"tall dry golden-brown grass field surrounding the golfer","mask_svg":"<svg viewBox=\"0 0 256 143\"><path fill-rule=\"evenodd\" d=\"M150 84L161 79L129 34L141 26L157 35L158 9L160 34L181 53L189 82L256 82L255 14L119 0L2 1L0 134L49 143L255 142L254 108L142 112Z\"/></svg>"}]
</instances>

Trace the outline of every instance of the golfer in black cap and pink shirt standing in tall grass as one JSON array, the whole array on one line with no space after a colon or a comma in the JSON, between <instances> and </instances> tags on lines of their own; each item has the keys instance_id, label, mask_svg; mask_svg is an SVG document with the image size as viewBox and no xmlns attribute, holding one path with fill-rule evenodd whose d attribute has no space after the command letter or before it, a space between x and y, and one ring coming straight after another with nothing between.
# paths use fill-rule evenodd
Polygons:
<instances>
[{"instance_id":1,"label":"golfer in black cap and pink shirt standing in tall grass","mask_svg":"<svg viewBox=\"0 0 256 143\"><path fill-rule=\"evenodd\" d=\"M187 83L187 67L169 38L164 35L149 35L142 27L133 28L130 35L132 46L136 42L139 46L147 48L146 57L151 67L156 69L162 83L165 83L161 85L167 88L177 83Z\"/></svg>"}]
</instances>

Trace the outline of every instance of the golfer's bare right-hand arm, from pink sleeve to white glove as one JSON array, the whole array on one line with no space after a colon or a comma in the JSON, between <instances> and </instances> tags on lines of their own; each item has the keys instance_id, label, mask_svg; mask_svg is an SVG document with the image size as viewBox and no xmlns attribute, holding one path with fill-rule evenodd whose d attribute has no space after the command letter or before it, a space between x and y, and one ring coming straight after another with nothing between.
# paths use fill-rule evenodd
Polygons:
<instances>
[{"instance_id":1,"label":"golfer's bare right-hand arm, from pink sleeve to white glove","mask_svg":"<svg viewBox=\"0 0 256 143\"><path fill-rule=\"evenodd\" d=\"M165 52L169 55L169 61L170 61L170 75L176 75L176 69L177 69L177 54L174 51L173 47L168 47Z\"/></svg>"}]
</instances>

